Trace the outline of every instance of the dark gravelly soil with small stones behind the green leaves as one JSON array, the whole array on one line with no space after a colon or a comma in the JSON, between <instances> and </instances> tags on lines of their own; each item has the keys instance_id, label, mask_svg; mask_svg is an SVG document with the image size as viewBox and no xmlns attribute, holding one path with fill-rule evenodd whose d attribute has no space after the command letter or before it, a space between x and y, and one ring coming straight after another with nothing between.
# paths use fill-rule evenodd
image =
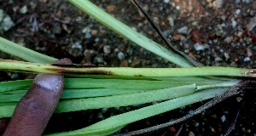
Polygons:
<instances>
[{"instance_id":1,"label":"dark gravelly soil with small stones behind the green leaves","mask_svg":"<svg viewBox=\"0 0 256 136\"><path fill-rule=\"evenodd\" d=\"M101 8L143 35L163 44L131 1L94 0ZM255 0L140 0L175 48L204 65L256 68ZM99 66L175 67L166 59L134 46L66 1L0 1L0 35L55 58ZM3 59L18 59L0 53ZM18 73L2 72L0 80L20 79ZM148 135L221 135L240 109L232 135L256 135L255 91L230 98L172 127ZM240 101L240 99L242 99ZM243 104L243 106L241 106ZM122 132L149 127L185 115L201 104L133 123ZM73 130L108 116L137 109L110 108L58 114L46 133ZM68 116L68 117L67 117ZM60 125L60 122L61 123ZM53 129L58 124L61 127Z\"/></svg>"}]
</instances>

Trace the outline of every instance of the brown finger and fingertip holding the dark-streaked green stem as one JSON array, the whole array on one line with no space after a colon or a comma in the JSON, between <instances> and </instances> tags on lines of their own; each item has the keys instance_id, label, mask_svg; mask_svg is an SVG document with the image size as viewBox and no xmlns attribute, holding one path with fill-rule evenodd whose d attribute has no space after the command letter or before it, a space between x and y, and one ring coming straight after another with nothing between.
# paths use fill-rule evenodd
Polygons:
<instances>
[{"instance_id":1,"label":"brown finger and fingertip holding the dark-streaked green stem","mask_svg":"<svg viewBox=\"0 0 256 136\"><path fill-rule=\"evenodd\" d=\"M55 64L71 65L70 59L55 61ZM32 87L16 105L3 136L37 136L44 132L50 116L61 97L64 77L54 74L38 74Z\"/></svg>"}]
</instances>

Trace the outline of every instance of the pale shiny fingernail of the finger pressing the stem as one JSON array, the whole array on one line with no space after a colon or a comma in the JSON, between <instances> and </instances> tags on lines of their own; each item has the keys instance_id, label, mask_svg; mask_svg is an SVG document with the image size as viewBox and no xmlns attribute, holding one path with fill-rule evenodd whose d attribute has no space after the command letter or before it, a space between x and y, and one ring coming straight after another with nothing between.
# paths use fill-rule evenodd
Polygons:
<instances>
[{"instance_id":1,"label":"pale shiny fingernail of the finger pressing the stem","mask_svg":"<svg viewBox=\"0 0 256 136\"><path fill-rule=\"evenodd\" d=\"M56 90L61 83L61 75L38 74L38 76L35 77L34 83L36 83L41 88Z\"/></svg>"}]
</instances>

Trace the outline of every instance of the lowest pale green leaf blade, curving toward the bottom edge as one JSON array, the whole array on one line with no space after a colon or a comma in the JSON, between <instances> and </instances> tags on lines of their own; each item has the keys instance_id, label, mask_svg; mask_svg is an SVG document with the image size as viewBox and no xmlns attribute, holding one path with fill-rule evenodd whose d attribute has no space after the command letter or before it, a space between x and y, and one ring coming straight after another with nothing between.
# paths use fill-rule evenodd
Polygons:
<instances>
[{"instance_id":1,"label":"lowest pale green leaf blade, curving toward the bottom edge","mask_svg":"<svg viewBox=\"0 0 256 136\"><path fill-rule=\"evenodd\" d=\"M150 116L155 116L166 111L172 111L174 109L183 107L185 105L191 105L196 102L200 102L205 99L211 99L218 94L224 94L229 88L209 89L201 91L195 94L190 94L177 99L170 99L165 102L161 102L156 105L150 105L136 111L129 111L117 116L109 117L101 122L97 122L89 127L84 127L79 130L65 132L65 133L52 133L51 136L71 136L71 135L96 135L97 133L108 133L116 127L123 127L131 122L137 122Z\"/></svg>"}]
</instances>

